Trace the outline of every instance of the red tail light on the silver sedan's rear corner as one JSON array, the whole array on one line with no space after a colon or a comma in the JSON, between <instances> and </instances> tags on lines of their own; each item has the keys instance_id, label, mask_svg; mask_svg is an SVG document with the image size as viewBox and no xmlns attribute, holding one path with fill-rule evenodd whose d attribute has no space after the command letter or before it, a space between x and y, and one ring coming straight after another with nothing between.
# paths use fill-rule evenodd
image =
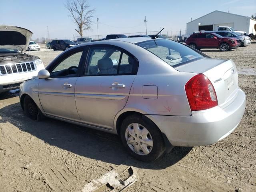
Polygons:
<instances>
[{"instance_id":1,"label":"red tail light on the silver sedan's rear corner","mask_svg":"<svg viewBox=\"0 0 256 192\"><path fill-rule=\"evenodd\" d=\"M214 87L204 74L192 77L186 83L185 90L192 111L205 110L218 105Z\"/></svg>"}]
</instances>

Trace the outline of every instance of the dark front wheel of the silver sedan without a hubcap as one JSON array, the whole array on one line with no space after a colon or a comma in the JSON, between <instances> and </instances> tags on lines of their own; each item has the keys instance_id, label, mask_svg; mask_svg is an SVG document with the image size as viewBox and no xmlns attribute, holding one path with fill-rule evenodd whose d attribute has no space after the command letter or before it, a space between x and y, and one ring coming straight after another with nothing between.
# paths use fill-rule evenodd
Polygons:
<instances>
[{"instance_id":1,"label":"dark front wheel of the silver sedan without a hubcap","mask_svg":"<svg viewBox=\"0 0 256 192\"><path fill-rule=\"evenodd\" d=\"M23 102L25 114L32 120L40 121L42 119L42 112L37 107L36 103L28 95L25 96Z\"/></svg>"}]
</instances>

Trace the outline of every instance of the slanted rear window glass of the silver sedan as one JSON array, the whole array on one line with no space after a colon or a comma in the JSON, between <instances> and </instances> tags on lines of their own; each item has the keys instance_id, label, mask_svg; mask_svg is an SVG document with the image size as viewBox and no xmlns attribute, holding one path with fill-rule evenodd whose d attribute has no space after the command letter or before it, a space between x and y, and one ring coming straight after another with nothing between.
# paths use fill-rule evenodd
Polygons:
<instances>
[{"instance_id":1,"label":"slanted rear window glass of the silver sedan","mask_svg":"<svg viewBox=\"0 0 256 192\"><path fill-rule=\"evenodd\" d=\"M148 40L136 43L136 45L152 52L170 66L204 58L204 56L192 48L171 40Z\"/></svg>"}]
</instances>

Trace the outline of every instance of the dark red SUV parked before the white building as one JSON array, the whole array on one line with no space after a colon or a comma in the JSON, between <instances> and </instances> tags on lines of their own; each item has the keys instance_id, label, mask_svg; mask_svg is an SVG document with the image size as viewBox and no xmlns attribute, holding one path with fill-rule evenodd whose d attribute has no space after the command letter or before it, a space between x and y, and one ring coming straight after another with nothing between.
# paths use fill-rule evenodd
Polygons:
<instances>
[{"instance_id":1,"label":"dark red SUV parked before the white building","mask_svg":"<svg viewBox=\"0 0 256 192\"><path fill-rule=\"evenodd\" d=\"M197 33L191 35L186 44L195 48L216 48L220 51L236 49L240 46L239 40L232 37L222 37L216 33Z\"/></svg>"}]
</instances>

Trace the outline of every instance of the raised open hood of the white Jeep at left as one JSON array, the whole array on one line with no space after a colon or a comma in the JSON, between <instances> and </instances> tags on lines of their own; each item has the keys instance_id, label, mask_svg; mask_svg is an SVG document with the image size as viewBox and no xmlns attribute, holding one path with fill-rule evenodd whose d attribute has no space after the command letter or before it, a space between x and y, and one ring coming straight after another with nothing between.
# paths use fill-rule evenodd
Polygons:
<instances>
[{"instance_id":1,"label":"raised open hood of the white Jeep at left","mask_svg":"<svg viewBox=\"0 0 256 192\"><path fill-rule=\"evenodd\" d=\"M17 49L23 52L28 49L32 34L25 28L0 25L0 48Z\"/></svg>"}]
</instances>

